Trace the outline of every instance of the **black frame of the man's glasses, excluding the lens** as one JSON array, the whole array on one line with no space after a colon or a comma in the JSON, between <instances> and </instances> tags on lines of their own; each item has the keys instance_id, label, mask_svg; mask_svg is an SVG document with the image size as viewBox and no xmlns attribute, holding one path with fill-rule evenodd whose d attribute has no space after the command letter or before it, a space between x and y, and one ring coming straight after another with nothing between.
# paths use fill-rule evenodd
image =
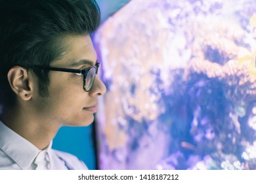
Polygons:
<instances>
[{"instance_id":1,"label":"black frame of the man's glasses, excluding the lens","mask_svg":"<svg viewBox=\"0 0 256 183\"><path fill-rule=\"evenodd\" d=\"M60 72L66 72L66 73L75 73L78 75L83 75L83 90L85 90L85 92L89 92L91 90L91 87L93 86L93 83L95 82L95 76L98 74L98 67L100 67L100 63L95 63L95 65L91 66L91 67L87 67L85 69L68 69L68 68L61 68L61 67L45 67L42 65L35 65L36 68L39 69L45 69L45 70L49 70L49 71L60 71ZM87 76L89 71L95 68L96 72L95 72L95 76L93 78L93 83L91 84L91 86L88 88L86 88L86 81L87 81Z\"/></svg>"}]
</instances>

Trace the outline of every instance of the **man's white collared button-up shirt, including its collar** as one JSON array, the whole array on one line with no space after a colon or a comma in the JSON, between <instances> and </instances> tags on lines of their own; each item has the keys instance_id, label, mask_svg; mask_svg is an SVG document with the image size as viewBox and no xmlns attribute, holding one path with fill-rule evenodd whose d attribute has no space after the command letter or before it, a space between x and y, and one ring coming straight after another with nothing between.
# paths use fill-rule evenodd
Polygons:
<instances>
[{"instance_id":1,"label":"man's white collared button-up shirt, including its collar","mask_svg":"<svg viewBox=\"0 0 256 183\"><path fill-rule=\"evenodd\" d=\"M39 150L0 121L0 169L88 169L74 155L53 150L51 146L52 142L44 150Z\"/></svg>"}]
</instances>

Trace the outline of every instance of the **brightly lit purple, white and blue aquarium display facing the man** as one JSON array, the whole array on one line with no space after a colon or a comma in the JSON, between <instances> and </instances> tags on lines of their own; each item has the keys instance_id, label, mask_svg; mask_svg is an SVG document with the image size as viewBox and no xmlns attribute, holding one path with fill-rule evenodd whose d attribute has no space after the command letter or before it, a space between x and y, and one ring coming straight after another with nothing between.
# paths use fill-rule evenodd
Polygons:
<instances>
[{"instance_id":1,"label":"brightly lit purple, white and blue aquarium display facing the man","mask_svg":"<svg viewBox=\"0 0 256 183\"><path fill-rule=\"evenodd\" d=\"M255 0L133 0L95 35L100 169L256 169Z\"/></svg>"}]
</instances>

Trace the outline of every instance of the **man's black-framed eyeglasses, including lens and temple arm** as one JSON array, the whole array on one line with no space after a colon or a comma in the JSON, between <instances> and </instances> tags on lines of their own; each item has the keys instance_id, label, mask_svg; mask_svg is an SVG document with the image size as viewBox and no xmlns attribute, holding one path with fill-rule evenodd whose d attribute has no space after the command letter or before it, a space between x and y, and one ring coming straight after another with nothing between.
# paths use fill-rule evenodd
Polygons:
<instances>
[{"instance_id":1,"label":"man's black-framed eyeglasses, including lens and temple arm","mask_svg":"<svg viewBox=\"0 0 256 183\"><path fill-rule=\"evenodd\" d=\"M35 67L39 69L45 69L49 71L60 71L67 73L75 73L77 75L83 75L83 90L85 92L89 92L91 87L93 86L93 82L95 81L95 76L98 73L98 67L100 67L100 63L96 63L94 66L88 67L86 69L67 69L67 68L59 68L59 67L44 67L41 65L36 65Z\"/></svg>"}]
</instances>

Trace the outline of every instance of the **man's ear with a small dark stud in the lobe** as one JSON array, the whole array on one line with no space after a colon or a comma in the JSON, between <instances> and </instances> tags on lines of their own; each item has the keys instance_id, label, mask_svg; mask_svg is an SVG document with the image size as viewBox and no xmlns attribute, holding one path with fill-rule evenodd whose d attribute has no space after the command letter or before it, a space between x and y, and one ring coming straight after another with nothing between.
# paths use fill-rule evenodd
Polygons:
<instances>
[{"instance_id":1,"label":"man's ear with a small dark stud in the lobe","mask_svg":"<svg viewBox=\"0 0 256 183\"><path fill-rule=\"evenodd\" d=\"M28 70L20 67L14 66L8 72L9 84L12 91L16 93L24 101L28 101L32 97L32 88L30 87L30 79Z\"/></svg>"}]
</instances>

